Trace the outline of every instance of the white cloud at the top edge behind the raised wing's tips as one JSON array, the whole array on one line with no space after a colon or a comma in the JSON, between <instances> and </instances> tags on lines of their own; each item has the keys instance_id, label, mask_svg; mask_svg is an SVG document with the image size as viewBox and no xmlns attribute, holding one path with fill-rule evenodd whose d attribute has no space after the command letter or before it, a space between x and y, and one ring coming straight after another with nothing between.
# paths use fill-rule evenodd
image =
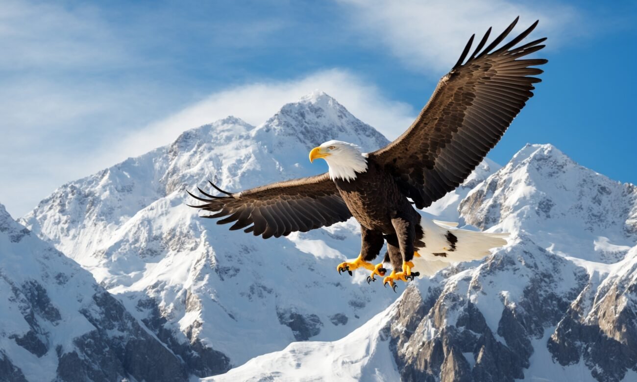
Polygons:
<instances>
[{"instance_id":1,"label":"white cloud at the top edge behind the raised wing's tips","mask_svg":"<svg viewBox=\"0 0 637 382\"><path fill-rule=\"evenodd\" d=\"M492 26L494 38L520 16L515 31L540 20L532 38L550 42L569 38L579 15L571 7L545 2L508 0L340 0L350 8L354 28L369 44L381 43L415 69L447 72L460 56L471 34L482 38Z\"/></svg>"}]
</instances>

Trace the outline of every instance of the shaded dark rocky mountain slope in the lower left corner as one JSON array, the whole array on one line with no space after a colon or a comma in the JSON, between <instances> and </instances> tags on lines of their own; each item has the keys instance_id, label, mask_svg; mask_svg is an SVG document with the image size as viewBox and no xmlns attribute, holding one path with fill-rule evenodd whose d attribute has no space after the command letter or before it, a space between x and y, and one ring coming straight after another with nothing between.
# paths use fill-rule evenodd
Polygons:
<instances>
[{"instance_id":1,"label":"shaded dark rocky mountain slope in the lower left corner","mask_svg":"<svg viewBox=\"0 0 637 382\"><path fill-rule=\"evenodd\" d=\"M1 381L179 381L188 371L90 272L0 204Z\"/></svg>"}]
</instances>

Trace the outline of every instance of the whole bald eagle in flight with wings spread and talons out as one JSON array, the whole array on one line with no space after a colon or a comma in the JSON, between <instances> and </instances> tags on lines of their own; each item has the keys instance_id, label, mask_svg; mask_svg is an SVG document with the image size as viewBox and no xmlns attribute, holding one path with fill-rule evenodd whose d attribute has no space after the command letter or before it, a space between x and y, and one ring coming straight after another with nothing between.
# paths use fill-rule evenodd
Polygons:
<instances>
[{"instance_id":1,"label":"whole bald eagle in flight with wings spread and talons out","mask_svg":"<svg viewBox=\"0 0 637 382\"><path fill-rule=\"evenodd\" d=\"M396 281L430 275L450 262L468 261L506 244L507 234L457 229L456 223L423 218L426 208L458 187L503 136L513 118L533 96L533 84L543 73L533 66L545 59L522 59L537 52L546 38L518 45L536 21L511 41L496 47L512 31L516 18L486 48L491 29L469 55L469 38L460 59L441 78L431 99L413 124L395 141L371 153L342 141L328 141L310 151L310 161L326 160L328 173L282 181L231 193L210 183L224 196L189 194L213 211L206 218L232 223L254 236L287 236L345 222L361 224L359 257L338 264L338 272L371 271L367 280L392 272L383 285L396 290ZM415 208L414 208L415 206ZM372 264L383 244L383 262Z\"/></svg>"}]
</instances>

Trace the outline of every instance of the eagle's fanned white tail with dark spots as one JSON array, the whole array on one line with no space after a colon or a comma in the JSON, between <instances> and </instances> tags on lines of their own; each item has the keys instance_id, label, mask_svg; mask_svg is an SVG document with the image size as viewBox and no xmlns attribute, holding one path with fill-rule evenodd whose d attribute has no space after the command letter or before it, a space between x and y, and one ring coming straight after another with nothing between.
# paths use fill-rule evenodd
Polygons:
<instances>
[{"instance_id":1,"label":"eagle's fanned white tail with dark spots","mask_svg":"<svg viewBox=\"0 0 637 382\"><path fill-rule=\"evenodd\" d=\"M457 229L458 223L420 219L424 232L423 248L417 248L420 257L413 258L413 270L420 276L431 276L450 263L483 258L491 248L506 245L509 234L476 232Z\"/></svg>"}]
</instances>

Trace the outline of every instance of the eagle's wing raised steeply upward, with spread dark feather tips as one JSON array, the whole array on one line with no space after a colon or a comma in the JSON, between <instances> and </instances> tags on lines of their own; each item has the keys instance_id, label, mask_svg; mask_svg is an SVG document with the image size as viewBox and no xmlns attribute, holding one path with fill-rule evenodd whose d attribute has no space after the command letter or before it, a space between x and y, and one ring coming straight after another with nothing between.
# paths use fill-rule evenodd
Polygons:
<instances>
[{"instance_id":1,"label":"eagle's wing raised steeply upward, with spread dark feather tips","mask_svg":"<svg viewBox=\"0 0 637 382\"><path fill-rule=\"evenodd\" d=\"M418 208L431 205L471 174L533 96L533 84L541 81L532 76L543 71L531 66L547 60L520 58L543 48L539 44L546 38L515 46L538 22L494 50L517 20L481 52L489 28L466 59L475 35L471 36L457 64L438 82L411 127L396 141L369 154L394 175Z\"/></svg>"}]
</instances>

